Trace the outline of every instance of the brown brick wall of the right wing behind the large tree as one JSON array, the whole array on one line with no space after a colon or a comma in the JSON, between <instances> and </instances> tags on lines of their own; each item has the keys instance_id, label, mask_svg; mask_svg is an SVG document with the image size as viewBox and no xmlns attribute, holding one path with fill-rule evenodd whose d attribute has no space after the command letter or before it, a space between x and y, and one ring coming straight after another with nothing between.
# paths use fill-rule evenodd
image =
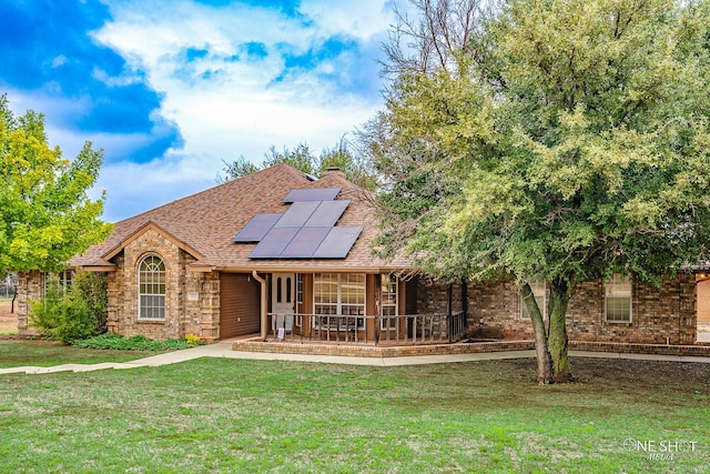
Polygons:
<instances>
[{"instance_id":1,"label":"brown brick wall of the right wing behind the large tree","mask_svg":"<svg viewBox=\"0 0 710 474\"><path fill-rule=\"evenodd\" d=\"M455 293L456 294L456 293ZM520 297L511 281L469 284L468 335L475 339L532 339L532 324L520 320ZM663 279L660 288L635 283L630 323L609 323L604 314L604 284L578 286L567 313L572 341L693 344L696 342L696 279L681 273ZM419 313L446 312L446 285L420 280L417 285Z\"/></svg>"}]
</instances>

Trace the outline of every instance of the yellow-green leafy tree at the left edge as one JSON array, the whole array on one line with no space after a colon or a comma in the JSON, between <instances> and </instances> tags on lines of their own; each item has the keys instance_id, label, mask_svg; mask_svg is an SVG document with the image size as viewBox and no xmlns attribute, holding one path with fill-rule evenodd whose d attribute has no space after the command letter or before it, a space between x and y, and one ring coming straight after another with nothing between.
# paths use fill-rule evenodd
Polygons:
<instances>
[{"instance_id":1,"label":"yellow-green leafy tree at the left edge","mask_svg":"<svg viewBox=\"0 0 710 474\"><path fill-rule=\"evenodd\" d=\"M0 275L61 270L109 235L103 198L87 195L102 161L89 142L74 160L63 159L47 142L42 114L16 118L0 95Z\"/></svg>"}]
</instances>

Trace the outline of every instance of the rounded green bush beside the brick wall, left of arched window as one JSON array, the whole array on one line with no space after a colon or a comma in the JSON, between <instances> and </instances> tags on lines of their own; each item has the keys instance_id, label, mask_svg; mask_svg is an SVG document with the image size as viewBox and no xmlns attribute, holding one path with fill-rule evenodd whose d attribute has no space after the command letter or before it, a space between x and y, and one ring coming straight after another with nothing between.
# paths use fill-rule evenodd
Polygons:
<instances>
[{"instance_id":1,"label":"rounded green bush beside the brick wall, left of arched window","mask_svg":"<svg viewBox=\"0 0 710 474\"><path fill-rule=\"evenodd\" d=\"M94 336L106 327L106 276L79 271L64 288L50 275L45 294L31 301L31 324L52 341L72 343Z\"/></svg>"}]
</instances>

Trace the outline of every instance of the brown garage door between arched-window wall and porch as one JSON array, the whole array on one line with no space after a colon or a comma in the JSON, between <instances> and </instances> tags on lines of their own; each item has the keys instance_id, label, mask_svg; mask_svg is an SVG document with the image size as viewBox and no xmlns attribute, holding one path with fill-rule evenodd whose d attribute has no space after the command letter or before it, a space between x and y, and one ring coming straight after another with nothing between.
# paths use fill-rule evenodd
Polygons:
<instances>
[{"instance_id":1,"label":"brown garage door between arched-window wall and porch","mask_svg":"<svg viewBox=\"0 0 710 474\"><path fill-rule=\"evenodd\" d=\"M220 283L220 339L261 330L261 288L252 275L223 273Z\"/></svg>"}]
</instances>

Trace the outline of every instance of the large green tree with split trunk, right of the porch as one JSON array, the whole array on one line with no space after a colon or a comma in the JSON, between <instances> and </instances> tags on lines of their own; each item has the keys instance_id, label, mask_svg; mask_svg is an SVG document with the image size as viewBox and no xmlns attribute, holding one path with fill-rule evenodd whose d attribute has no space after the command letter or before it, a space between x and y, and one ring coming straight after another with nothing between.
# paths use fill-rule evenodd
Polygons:
<instances>
[{"instance_id":1,"label":"large green tree with split trunk, right of the porch","mask_svg":"<svg viewBox=\"0 0 710 474\"><path fill-rule=\"evenodd\" d=\"M515 279L538 381L569 380L580 282L658 282L708 255L709 2L414 4L364 134L384 177L381 251L452 280Z\"/></svg>"}]
</instances>

